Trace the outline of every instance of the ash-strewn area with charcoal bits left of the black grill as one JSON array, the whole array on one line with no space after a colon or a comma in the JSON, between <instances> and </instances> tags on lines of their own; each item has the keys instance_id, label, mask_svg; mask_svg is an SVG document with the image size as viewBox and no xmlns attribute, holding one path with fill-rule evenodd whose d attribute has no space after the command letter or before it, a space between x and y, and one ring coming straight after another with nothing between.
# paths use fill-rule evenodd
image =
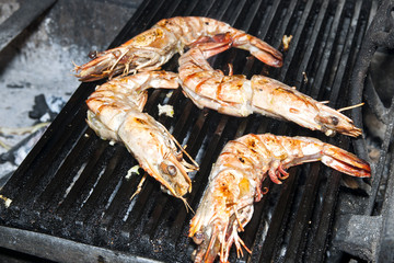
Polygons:
<instances>
[{"instance_id":1,"label":"ash-strewn area with charcoal bits left of the black grill","mask_svg":"<svg viewBox=\"0 0 394 263\"><path fill-rule=\"evenodd\" d=\"M129 19L119 11L132 13L138 3L111 3L104 11L104 1L0 0L0 188L79 84L70 72L72 58L79 62L91 48L105 48L104 36L115 37ZM112 15L103 13L118 13L117 21L108 24ZM74 16L83 20L78 28L61 23ZM94 28L83 25L92 18ZM82 31L92 37L76 36Z\"/></svg>"}]
</instances>

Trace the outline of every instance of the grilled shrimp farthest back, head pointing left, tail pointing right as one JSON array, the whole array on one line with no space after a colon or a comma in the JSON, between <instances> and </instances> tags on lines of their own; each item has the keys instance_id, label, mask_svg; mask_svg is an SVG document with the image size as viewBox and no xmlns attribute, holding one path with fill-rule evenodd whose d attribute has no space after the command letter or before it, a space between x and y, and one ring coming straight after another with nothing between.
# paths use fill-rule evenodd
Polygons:
<instances>
[{"instance_id":1,"label":"grilled shrimp farthest back, head pointing left, tail pointing right","mask_svg":"<svg viewBox=\"0 0 394 263\"><path fill-rule=\"evenodd\" d=\"M235 30L229 24L208 18L176 16L159 21L150 30L135 36L119 47L93 55L93 60L74 67L81 81L94 81L115 75L123 76L139 70L155 70L184 47L210 37L230 37L220 47L230 46L248 50L253 56L273 67L281 67L282 55L257 37Z\"/></svg>"}]
</instances>

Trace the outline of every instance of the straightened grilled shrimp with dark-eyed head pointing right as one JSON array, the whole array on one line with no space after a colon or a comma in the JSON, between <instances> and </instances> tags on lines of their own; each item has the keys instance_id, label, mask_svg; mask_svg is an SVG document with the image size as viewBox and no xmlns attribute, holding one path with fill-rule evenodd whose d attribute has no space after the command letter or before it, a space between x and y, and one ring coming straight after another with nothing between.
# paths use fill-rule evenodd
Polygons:
<instances>
[{"instance_id":1,"label":"straightened grilled shrimp with dark-eyed head pointing right","mask_svg":"<svg viewBox=\"0 0 394 263\"><path fill-rule=\"evenodd\" d=\"M183 91L200 108L209 107L223 114L247 116L259 113L294 122L327 136L340 133L357 137L361 129L352 121L321 102L302 94L277 80L264 76L224 76L215 70L207 58L218 52L221 43L204 43L179 58L179 80Z\"/></svg>"}]
</instances>

